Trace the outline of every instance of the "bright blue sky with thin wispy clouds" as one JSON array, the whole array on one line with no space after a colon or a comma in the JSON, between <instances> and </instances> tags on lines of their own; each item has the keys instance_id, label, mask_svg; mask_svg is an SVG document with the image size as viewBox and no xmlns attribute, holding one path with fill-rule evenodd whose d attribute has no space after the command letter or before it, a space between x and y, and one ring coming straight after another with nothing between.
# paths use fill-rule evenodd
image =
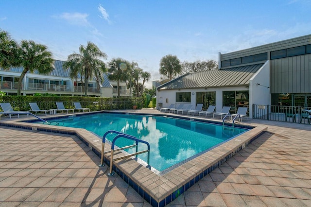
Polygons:
<instances>
[{"instance_id":1,"label":"bright blue sky with thin wispy clouds","mask_svg":"<svg viewBox=\"0 0 311 207\"><path fill-rule=\"evenodd\" d=\"M0 29L67 60L95 43L159 80L160 59L216 60L227 53L311 34L311 0L0 0Z\"/></svg>"}]
</instances>

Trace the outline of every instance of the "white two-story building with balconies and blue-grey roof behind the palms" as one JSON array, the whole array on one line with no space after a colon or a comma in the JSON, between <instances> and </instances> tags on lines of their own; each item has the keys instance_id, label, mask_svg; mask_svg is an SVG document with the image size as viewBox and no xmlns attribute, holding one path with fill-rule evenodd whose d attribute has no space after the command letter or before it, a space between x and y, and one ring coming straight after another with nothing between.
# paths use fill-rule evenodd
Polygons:
<instances>
[{"instance_id":1,"label":"white two-story building with balconies and blue-grey roof behind the palms","mask_svg":"<svg viewBox=\"0 0 311 207\"><path fill-rule=\"evenodd\" d=\"M77 80L72 80L69 70L63 69L64 61L55 60L54 69L48 75L26 73L21 93L22 95L34 95L35 93L52 93L59 96L84 96L81 76ZM0 69L0 91L7 95L17 95L17 82L22 72L22 67L11 68L9 70ZM87 95L95 97L117 97L117 82L109 80L109 74L104 74L104 82L98 86L95 80L89 80L87 85ZM120 83L120 95L129 97L129 89L125 82Z\"/></svg>"}]
</instances>

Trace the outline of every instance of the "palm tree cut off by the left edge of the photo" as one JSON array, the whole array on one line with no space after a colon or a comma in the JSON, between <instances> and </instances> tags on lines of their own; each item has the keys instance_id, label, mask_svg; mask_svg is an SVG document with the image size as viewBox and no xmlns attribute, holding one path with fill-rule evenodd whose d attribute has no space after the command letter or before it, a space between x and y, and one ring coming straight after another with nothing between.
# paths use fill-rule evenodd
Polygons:
<instances>
[{"instance_id":1,"label":"palm tree cut off by the left edge of the photo","mask_svg":"<svg viewBox=\"0 0 311 207\"><path fill-rule=\"evenodd\" d=\"M6 31L0 30L0 68L18 66L17 48L17 42Z\"/></svg>"}]
</instances>

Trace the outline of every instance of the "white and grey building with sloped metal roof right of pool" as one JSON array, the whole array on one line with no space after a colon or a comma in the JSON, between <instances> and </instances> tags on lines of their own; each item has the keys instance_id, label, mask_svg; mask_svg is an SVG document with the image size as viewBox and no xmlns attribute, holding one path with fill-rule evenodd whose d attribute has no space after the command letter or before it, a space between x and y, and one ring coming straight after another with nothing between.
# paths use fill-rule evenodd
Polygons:
<instances>
[{"instance_id":1,"label":"white and grey building with sloped metal roof right of pool","mask_svg":"<svg viewBox=\"0 0 311 207\"><path fill-rule=\"evenodd\" d=\"M221 54L219 69L188 73L157 87L157 107L170 104L311 107L311 35ZM285 97L285 98L284 98Z\"/></svg>"}]
</instances>

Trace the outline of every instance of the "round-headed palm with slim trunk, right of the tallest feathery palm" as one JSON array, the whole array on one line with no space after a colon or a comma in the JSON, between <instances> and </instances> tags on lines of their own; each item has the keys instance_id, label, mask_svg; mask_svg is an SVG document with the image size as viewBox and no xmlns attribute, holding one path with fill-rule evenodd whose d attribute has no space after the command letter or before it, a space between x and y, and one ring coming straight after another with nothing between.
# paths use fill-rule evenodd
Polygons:
<instances>
[{"instance_id":1,"label":"round-headed palm with slim trunk, right of the tallest feathery palm","mask_svg":"<svg viewBox=\"0 0 311 207\"><path fill-rule=\"evenodd\" d=\"M112 74L109 75L109 79L117 81L118 98L120 97L120 81L127 81L130 76L131 65L128 61L122 58L113 58L108 63L108 71Z\"/></svg>"}]
</instances>

